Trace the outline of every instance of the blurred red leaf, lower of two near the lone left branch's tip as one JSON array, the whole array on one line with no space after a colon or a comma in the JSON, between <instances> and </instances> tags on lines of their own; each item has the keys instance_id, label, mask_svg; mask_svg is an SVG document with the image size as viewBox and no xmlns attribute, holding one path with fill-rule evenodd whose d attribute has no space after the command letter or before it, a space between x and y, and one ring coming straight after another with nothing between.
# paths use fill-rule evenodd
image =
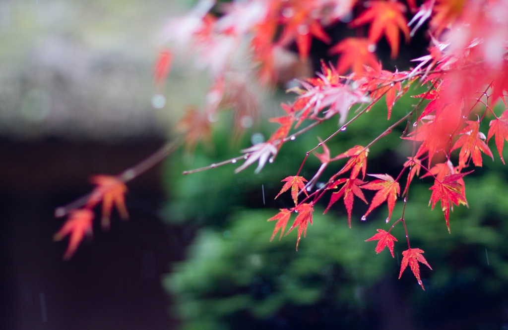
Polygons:
<instances>
[{"instance_id":1,"label":"blurred red leaf, lower of two near the lone left branch's tip","mask_svg":"<svg viewBox=\"0 0 508 330\"><path fill-rule=\"evenodd\" d=\"M63 237L70 235L69 247L63 255L63 259L70 259L79 243L85 237L85 234L92 233L93 212L88 209L73 210L69 219L63 224L58 232L53 236L54 241L60 241Z\"/></svg>"}]
</instances>

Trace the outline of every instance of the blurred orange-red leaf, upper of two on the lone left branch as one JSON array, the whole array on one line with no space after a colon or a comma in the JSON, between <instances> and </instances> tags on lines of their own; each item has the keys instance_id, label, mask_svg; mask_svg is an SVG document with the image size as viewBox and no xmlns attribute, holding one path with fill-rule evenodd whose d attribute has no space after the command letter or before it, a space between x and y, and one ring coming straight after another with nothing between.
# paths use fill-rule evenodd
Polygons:
<instances>
[{"instance_id":1,"label":"blurred orange-red leaf, upper of two on the lone left branch","mask_svg":"<svg viewBox=\"0 0 508 330\"><path fill-rule=\"evenodd\" d=\"M94 175L90 179L91 183L96 184L97 187L88 199L87 206L93 207L102 201L102 219L101 225L103 228L109 228L111 209L113 203L122 219L129 219L129 213L125 207L125 192L127 187L120 179L110 175Z\"/></svg>"}]
</instances>

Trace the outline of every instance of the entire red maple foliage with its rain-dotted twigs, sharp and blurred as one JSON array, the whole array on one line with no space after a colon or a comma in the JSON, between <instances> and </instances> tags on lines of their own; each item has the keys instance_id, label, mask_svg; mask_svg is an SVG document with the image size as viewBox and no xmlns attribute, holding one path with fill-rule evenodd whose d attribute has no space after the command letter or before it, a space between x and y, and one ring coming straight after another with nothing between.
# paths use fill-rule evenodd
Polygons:
<instances>
[{"instance_id":1,"label":"entire red maple foliage with its rain-dotted twigs, sharp and blurred","mask_svg":"<svg viewBox=\"0 0 508 330\"><path fill-rule=\"evenodd\" d=\"M282 236L295 212L296 219L285 234L298 229L298 247L302 234L305 236L308 224L312 223L313 206L322 198L328 198L328 191L332 193L325 212L343 200L350 226L355 196L370 203L362 220L387 202L389 215L386 223L390 221L397 200L402 199L404 208L397 215L398 220L388 231L378 229L378 233L367 241L378 240L375 251L379 253L388 247L393 256L394 241L397 240L390 233L396 224L401 223L406 233L407 250L402 252L399 277L409 265L423 288L418 262L430 266L422 255L424 251L411 247L404 218L410 183L415 177L434 179L429 188L432 191L429 205L434 208L440 203L450 230L453 206L467 205L463 177L471 172L472 166L482 166L482 153L493 158L487 145L492 137L504 163L502 149L504 140L508 141L508 112L496 114L494 105L500 101L504 103L508 90L507 17L508 3L503 0L426 0L422 3L415 0L406 3L393 0L247 0L228 4L200 1L186 15L168 22L161 39L170 48L161 52L155 65L158 90L164 87L173 55L192 58L197 67L211 76L203 109L190 109L177 125L187 149L210 140L211 125L217 121L219 111L233 111L235 135L250 127L259 117L259 98L254 86L274 86L284 70L307 61L313 40L329 44L329 53L339 54L339 57L336 65L323 63L316 77L301 79L298 87L290 89L296 94L295 101L282 104L284 115L270 119L279 127L265 142L242 150L242 156L184 174L242 159L244 162L236 172L257 162L258 173L267 161L274 161L284 143L337 115L337 131L307 152L298 173L282 180L285 184L280 193L291 188L295 206L281 209L269 219L277 221L272 239L279 229ZM333 45L326 31L339 22L355 28L358 36L362 31L366 34L348 37ZM365 29L367 25L368 29ZM427 26L428 55L412 60L414 68L408 71L384 70L375 55L376 43L385 38L394 58L398 55L401 39L410 42L411 36L422 26ZM294 44L298 56L290 51ZM384 97L390 120L398 98L410 88L422 86L426 91L415 96L414 107L407 109L406 114L396 118L395 122L387 123L386 130L369 144L351 146L336 156L330 153L326 142L352 125L359 116L379 117L379 114L368 114L372 105L382 102ZM484 119L490 125L487 136L480 131ZM400 174L396 178L388 174L367 175L369 148L374 148L375 143L391 134L395 127L404 125L401 138L410 141L412 153L407 154L408 160L400 164ZM323 148L323 153L315 153L318 148ZM458 161L455 154L452 156L456 149L460 149ZM307 181L300 176L300 171L310 153L321 160L322 166ZM344 164L341 163L343 159L346 159ZM332 166L336 168L335 174L312 191L324 170ZM368 181L369 178L373 179ZM101 188L96 191L98 189ZM370 202L362 189L376 191ZM106 214L109 214L108 205L111 205L106 196L112 191L116 196L119 188L103 188L100 193ZM99 200L97 197L90 199L88 208ZM90 217L90 213L86 213L79 219L91 223ZM76 218L76 213L71 213L68 223ZM85 227L64 225L58 238L72 233L66 255L75 250L82 238L79 233Z\"/></svg>"}]
</instances>

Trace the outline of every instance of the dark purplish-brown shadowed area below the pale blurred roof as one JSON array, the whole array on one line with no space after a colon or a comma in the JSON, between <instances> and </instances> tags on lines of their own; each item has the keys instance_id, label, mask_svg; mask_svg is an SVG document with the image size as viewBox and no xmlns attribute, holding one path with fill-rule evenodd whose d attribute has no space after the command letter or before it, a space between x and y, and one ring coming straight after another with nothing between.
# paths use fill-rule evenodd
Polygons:
<instances>
[{"instance_id":1,"label":"dark purplish-brown shadowed area below the pale blurred roof","mask_svg":"<svg viewBox=\"0 0 508 330\"><path fill-rule=\"evenodd\" d=\"M2 329L175 327L160 278L182 259L190 235L158 217L161 166L129 184L129 221L114 211L111 230L94 226L69 261L62 260L67 238L52 241L64 221L54 208L89 192L91 174L119 173L163 143L0 139Z\"/></svg>"}]
</instances>

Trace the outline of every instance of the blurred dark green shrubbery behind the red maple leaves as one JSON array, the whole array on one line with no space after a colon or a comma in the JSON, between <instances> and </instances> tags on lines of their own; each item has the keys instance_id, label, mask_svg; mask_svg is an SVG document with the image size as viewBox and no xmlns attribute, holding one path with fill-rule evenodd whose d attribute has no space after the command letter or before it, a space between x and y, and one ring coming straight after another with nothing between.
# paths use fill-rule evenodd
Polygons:
<instances>
[{"instance_id":1,"label":"blurred dark green shrubbery behind the red maple leaves","mask_svg":"<svg viewBox=\"0 0 508 330\"><path fill-rule=\"evenodd\" d=\"M416 93L411 91L410 93ZM280 95L279 95L280 98ZM379 102L327 145L332 156L355 145L366 145L391 122L403 116L417 100L405 95L386 120ZM227 118L225 118L227 119ZM227 120L222 120L227 122ZM275 126L259 130L269 136ZM399 174L412 144L399 137L405 123L372 146L367 173ZM397 280L401 252L407 249L403 227L396 257L388 250L376 255L375 242L364 242L377 228L387 230L386 204L360 221L367 206L355 201L352 228L342 202L322 215L329 196L315 207L313 225L295 251L296 233L270 242L274 222L266 220L278 208L291 207L287 192L277 200L280 180L295 175L305 153L328 137L336 121L286 143L272 164L258 174L254 167L234 174L233 165L193 175L183 170L207 166L238 155L227 125L214 132L213 152L198 148L194 156L177 156L166 164L169 222L196 228L186 260L178 263L164 283L176 300L175 313L185 329L224 328L432 328L463 324L462 328L504 326L508 298L508 194L506 170L498 157L484 157L484 168L465 178L469 208L451 214L451 235L439 210L430 210L432 180L411 185L405 219L411 247L425 251L433 271L421 268L426 291L407 269ZM481 127L487 133L488 127ZM248 147L247 132L242 147ZM494 151L495 146L491 142ZM318 149L317 152L322 152ZM456 159L453 159L456 162ZM343 163L331 164L326 180ZM320 162L307 159L302 175L310 179ZM404 176L405 177L405 174ZM368 177L366 177L368 180ZM402 184L404 184L404 180ZM263 196L264 193L264 196ZM374 192L365 192L370 200ZM392 221L400 217L399 199ZM290 220L291 225L294 220ZM278 235L276 236L278 238Z\"/></svg>"}]
</instances>

